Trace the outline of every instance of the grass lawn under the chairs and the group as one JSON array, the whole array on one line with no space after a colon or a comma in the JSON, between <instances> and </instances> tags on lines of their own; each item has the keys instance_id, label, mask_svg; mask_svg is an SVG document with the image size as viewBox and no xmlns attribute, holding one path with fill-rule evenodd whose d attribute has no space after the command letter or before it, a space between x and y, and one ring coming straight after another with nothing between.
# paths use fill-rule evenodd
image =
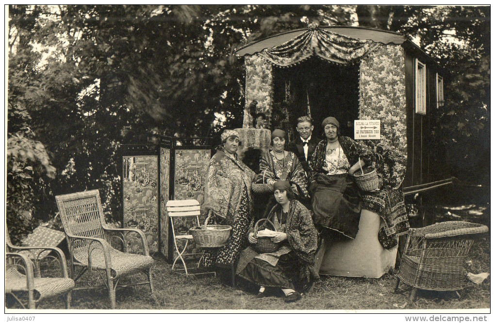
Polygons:
<instances>
[{"instance_id":1,"label":"grass lawn under the chairs and the group","mask_svg":"<svg viewBox=\"0 0 495 323\"><path fill-rule=\"evenodd\" d=\"M490 208L484 216L473 219L473 214L456 211L457 218L490 226ZM488 214L487 214L488 213ZM442 211L445 215L445 210ZM487 216L488 215L488 216ZM450 216L450 215L449 215ZM469 216L469 219L466 217ZM490 273L490 233L478 235L471 248L467 272ZM469 263L469 261L468 261ZM477 285L466 280L466 287L455 292L422 290L415 302L409 301L410 287L400 284L394 293L394 273L379 279L323 276L310 294L296 303L287 304L283 297L256 298L253 292L234 289L213 276L188 276L172 273L171 266L155 258L153 266L155 292L144 286L117 288L116 309L147 310L426 310L426 309L481 309L490 308L490 277ZM98 277L92 273L92 277ZM144 278L145 275L142 275ZM78 290L72 295L72 309L109 309L105 290ZM17 303L6 303L8 308L19 308ZM40 309L64 309L61 298L41 303Z\"/></svg>"}]
</instances>

